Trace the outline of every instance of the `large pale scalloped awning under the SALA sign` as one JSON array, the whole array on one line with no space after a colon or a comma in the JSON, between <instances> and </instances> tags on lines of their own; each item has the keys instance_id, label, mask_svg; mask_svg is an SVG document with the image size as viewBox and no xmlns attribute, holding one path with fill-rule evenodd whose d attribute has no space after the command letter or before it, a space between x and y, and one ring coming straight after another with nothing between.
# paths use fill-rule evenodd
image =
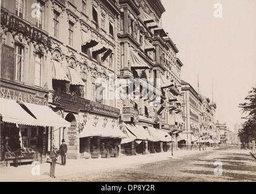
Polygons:
<instances>
[{"instance_id":1,"label":"large pale scalloped awning under the SALA sign","mask_svg":"<svg viewBox=\"0 0 256 194\"><path fill-rule=\"evenodd\" d=\"M0 98L0 115L2 121L13 124L58 128L71 126L46 105L18 103L11 99Z\"/></svg>"}]
</instances>

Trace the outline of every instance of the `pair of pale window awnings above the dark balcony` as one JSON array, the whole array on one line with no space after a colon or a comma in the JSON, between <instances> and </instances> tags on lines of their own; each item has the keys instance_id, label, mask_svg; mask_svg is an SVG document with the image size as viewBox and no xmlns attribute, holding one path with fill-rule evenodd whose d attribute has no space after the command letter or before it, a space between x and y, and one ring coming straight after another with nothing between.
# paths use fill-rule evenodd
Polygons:
<instances>
[{"instance_id":1,"label":"pair of pale window awnings above the dark balcony","mask_svg":"<svg viewBox=\"0 0 256 194\"><path fill-rule=\"evenodd\" d=\"M77 70L71 67L63 67L63 64L55 60L52 60L52 63L52 79L67 81L72 85L85 85Z\"/></svg>"}]
</instances>

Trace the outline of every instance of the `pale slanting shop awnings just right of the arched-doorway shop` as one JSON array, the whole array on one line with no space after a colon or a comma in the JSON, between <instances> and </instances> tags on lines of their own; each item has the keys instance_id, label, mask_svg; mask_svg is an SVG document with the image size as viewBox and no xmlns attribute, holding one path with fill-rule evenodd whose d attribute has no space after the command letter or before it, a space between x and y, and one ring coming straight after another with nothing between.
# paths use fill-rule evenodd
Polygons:
<instances>
[{"instance_id":1,"label":"pale slanting shop awnings just right of the arched-doorway shop","mask_svg":"<svg viewBox=\"0 0 256 194\"><path fill-rule=\"evenodd\" d=\"M155 129L154 127L147 127L144 129L142 125L133 125L133 124L124 124L125 133L127 138L122 139L122 144L126 144L128 142L134 140L140 141L162 141L162 142L171 142L171 136L162 130Z\"/></svg>"}]
</instances>

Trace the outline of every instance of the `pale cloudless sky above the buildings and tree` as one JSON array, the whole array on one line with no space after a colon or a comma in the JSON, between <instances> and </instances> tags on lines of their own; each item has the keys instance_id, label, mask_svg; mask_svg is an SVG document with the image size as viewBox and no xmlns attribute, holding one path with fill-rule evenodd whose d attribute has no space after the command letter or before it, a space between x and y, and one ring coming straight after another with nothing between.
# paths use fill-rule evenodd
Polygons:
<instances>
[{"instance_id":1,"label":"pale cloudless sky above the buildings and tree","mask_svg":"<svg viewBox=\"0 0 256 194\"><path fill-rule=\"evenodd\" d=\"M223 5L215 18L214 4ZM217 105L229 129L242 122L238 104L256 87L255 0L162 0L162 26L179 49L181 78ZM213 79L213 84L212 84Z\"/></svg>"}]
</instances>

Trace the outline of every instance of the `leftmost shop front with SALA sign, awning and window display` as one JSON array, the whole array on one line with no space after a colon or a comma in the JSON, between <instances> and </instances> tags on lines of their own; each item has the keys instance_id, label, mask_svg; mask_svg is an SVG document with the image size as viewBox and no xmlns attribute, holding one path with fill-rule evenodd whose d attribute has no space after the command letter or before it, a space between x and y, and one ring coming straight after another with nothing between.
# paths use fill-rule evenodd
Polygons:
<instances>
[{"instance_id":1,"label":"leftmost shop front with SALA sign, awning and window display","mask_svg":"<svg viewBox=\"0 0 256 194\"><path fill-rule=\"evenodd\" d=\"M46 155L48 133L69 122L47 107L47 92L1 82L1 162L24 164Z\"/></svg>"}]
</instances>

